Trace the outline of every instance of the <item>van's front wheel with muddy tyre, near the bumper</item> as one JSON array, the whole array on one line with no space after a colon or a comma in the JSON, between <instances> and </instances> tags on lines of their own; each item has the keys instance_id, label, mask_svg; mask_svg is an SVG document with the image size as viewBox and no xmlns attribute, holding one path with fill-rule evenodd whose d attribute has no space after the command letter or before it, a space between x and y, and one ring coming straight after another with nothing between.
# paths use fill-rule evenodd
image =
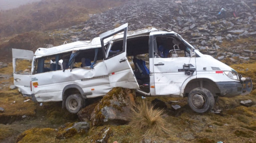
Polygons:
<instances>
[{"instance_id":1,"label":"van's front wheel with muddy tyre, near the bumper","mask_svg":"<svg viewBox=\"0 0 256 143\"><path fill-rule=\"evenodd\" d=\"M214 106L214 96L206 88L194 88L188 94L188 105L195 112L209 112Z\"/></svg>"}]
</instances>

